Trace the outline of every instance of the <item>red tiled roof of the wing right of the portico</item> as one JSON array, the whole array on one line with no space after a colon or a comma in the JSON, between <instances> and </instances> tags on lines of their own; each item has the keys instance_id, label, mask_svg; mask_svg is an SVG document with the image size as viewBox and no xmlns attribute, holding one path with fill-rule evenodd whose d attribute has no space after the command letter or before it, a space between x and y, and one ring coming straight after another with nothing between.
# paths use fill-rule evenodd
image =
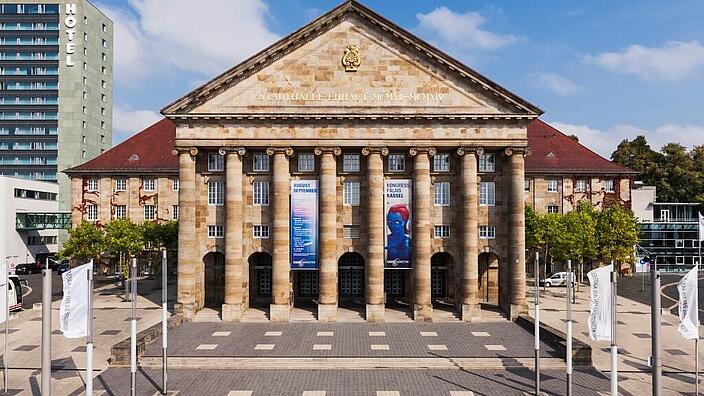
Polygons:
<instances>
[{"instance_id":1,"label":"red tiled roof of the wing right of the portico","mask_svg":"<svg viewBox=\"0 0 704 396\"><path fill-rule=\"evenodd\" d=\"M572 140L540 119L528 125L526 172L637 174L638 172L609 161Z\"/></svg>"}]
</instances>

